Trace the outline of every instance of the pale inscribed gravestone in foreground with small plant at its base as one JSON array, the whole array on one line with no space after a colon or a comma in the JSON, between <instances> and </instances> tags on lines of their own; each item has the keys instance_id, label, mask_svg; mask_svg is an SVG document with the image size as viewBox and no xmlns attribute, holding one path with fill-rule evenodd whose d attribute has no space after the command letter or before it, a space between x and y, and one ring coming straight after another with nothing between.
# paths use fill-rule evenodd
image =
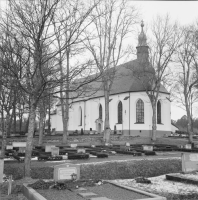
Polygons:
<instances>
[{"instance_id":1,"label":"pale inscribed gravestone in foreground with small plant at its base","mask_svg":"<svg viewBox=\"0 0 198 200\"><path fill-rule=\"evenodd\" d=\"M72 174L77 175L77 179L80 179L80 165L75 164L61 164L54 166L54 181L63 182L65 180L72 180Z\"/></svg>"}]
</instances>

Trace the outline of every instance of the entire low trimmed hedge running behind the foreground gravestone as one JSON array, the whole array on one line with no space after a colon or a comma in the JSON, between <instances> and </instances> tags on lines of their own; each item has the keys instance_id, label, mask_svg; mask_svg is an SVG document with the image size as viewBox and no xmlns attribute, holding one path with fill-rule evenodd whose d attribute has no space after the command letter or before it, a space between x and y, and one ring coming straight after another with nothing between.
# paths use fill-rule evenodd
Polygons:
<instances>
[{"instance_id":1,"label":"entire low trimmed hedge running behind the foreground gravestone","mask_svg":"<svg viewBox=\"0 0 198 200\"><path fill-rule=\"evenodd\" d=\"M13 175L13 178L23 178L22 164L5 164L4 173ZM34 179L52 179L52 167L33 167L31 177ZM124 162L108 162L100 164L82 164L80 176L82 179L130 179L139 176L154 177L168 173L181 172L181 160L160 159L160 160L133 160Z\"/></svg>"}]
</instances>

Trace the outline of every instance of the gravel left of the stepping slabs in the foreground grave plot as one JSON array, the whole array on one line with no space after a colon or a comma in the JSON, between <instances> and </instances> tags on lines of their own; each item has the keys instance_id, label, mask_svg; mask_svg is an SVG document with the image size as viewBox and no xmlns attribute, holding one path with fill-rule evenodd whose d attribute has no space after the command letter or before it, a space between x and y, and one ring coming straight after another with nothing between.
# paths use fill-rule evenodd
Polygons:
<instances>
[{"instance_id":1,"label":"gravel left of the stepping slabs in the foreground grave plot","mask_svg":"<svg viewBox=\"0 0 198 200\"><path fill-rule=\"evenodd\" d=\"M70 190L36 190L47 200L85 200L74 192Z\"/></svg>"}]
</instances>

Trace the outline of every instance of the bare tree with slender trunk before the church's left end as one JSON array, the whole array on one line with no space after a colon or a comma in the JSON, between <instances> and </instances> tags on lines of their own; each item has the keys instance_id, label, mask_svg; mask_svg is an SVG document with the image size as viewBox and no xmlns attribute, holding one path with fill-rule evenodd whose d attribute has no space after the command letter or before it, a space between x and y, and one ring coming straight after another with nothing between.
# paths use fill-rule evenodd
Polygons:
<instances>
[{"instance_id":1,"label":"bare tree with slender trunk before the church's left end","mask_svg":"<svg viewBox=\"0 0 198 200\"><path fill-rule=\"evenodd\" d=\"M97 4L97 1L94 2L93 5L89 4L88 6L84 5L83 2L79 0L67 1L66 6L63 6L62 9L60 9L60 13L57 16L60 26L57 27L56 23L54 23L57 48L61 48L61 44L63 41L67 44L67 48L65 48L64 51L59 51L59 54L57 56L60 67L60 77L62 80L65 80L64 82L60 81L60 104L63 122L63 143L67 142L68 135L70 106L69 99L71 84L76 78L82 78L81 73L87 70L87 68L90 67L89 65L91 64L90 62L84 64L79 64L75 62L75 64L71 64L71 61L74 61L73 58L75 58L75 60L78 60L78 57L83 51L82 32L90 24L90 22L87 22L86 19ZM61 29L64 30L63 34L60 31ZM93 79L95 79L95 77L93 77ZM83 81L79 81L79 85L84 85L86 82L86 79L84 79Z\"/></svg>"}]
</instances>

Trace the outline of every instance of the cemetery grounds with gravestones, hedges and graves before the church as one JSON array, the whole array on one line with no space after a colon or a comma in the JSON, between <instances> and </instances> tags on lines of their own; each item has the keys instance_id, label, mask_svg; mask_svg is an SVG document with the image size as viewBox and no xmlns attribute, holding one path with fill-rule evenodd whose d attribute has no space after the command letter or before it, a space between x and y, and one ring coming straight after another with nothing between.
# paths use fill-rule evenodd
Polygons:
<instances>
[{"instance_id":1,"label":"cemetery grounds with gravestones, hedges and graves before the church","mask_svg":"<svg viewBox=\"0 0 198 200\"><path fill-rule=\"evenodd\" d=\"M7 146L0 178L6 181L12 175L17 183L23 180L24 143L13 144ZM33 194L46 200L198 198L196 144L46 144L34 146L31 166L30 182L13 184L10 195L21 190L30 200ZM166 191L171 184L170 188L181 187L180 192ZM185 187L189 191L182 193ZM7 193L8 181L2 184L1 190Z\"/></svg>"}]
</instances>

